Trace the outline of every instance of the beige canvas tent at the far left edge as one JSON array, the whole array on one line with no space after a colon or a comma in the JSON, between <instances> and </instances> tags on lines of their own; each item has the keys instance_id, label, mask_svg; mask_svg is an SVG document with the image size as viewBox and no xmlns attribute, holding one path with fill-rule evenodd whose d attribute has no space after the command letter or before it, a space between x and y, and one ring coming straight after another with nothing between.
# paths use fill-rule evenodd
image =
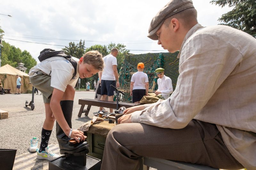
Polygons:
<instances>
[{"instance_id":1,"label":"beige canvas tent at the far left edge","mask_svg":"<svg viewBox=\"0 0 256 170\"><path fill-rule=\"evenodd\" d=\"M29 83L29 77L27 73L24 73L20 70L15 69L14 67L10 66L9 64L0 67L0 79L4 85L4 89L11 89L11 93L16 93L16 82L17 78L16 75L19 75L21 78L22 85L20 86L22 93L27 93L27 90L32 89L32 85Z\"/></svg>"}]
</instances>

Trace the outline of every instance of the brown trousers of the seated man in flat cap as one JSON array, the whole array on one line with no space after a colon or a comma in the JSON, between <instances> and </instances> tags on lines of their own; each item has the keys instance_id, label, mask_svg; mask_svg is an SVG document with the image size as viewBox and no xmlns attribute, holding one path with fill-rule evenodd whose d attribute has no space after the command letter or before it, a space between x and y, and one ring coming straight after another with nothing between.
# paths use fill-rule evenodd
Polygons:
<instances>
[{"instance_id":1,"label":"brown trousers of the seated man in flat cap","mask_svg":"<svg viewBox=\"0 0 256 170\"><path fill-rule=\"evenodd\" d=\"M216 125L197 120L192 120L183 129L142 123L116 125L108 133L101 170L139 169L140 156L220 169L243 168L229 153Z\"/></svg>"}]
</instances>

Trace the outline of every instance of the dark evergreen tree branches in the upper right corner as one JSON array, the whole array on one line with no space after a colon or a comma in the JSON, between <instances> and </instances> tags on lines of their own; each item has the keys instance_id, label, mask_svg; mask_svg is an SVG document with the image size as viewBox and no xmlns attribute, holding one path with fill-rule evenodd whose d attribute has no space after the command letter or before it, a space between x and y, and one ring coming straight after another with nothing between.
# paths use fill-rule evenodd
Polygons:
<instances>
[{"instance_id":1,"label":"dark evergreen tree branches in the upper right corner","mask_svg":"<svg viewBox=\"0 0 256 170\"><path fill-rule=\"evenodd\" d=\"M218 21L221 25L242 30L256 38L256 3L255 0L213 0L212 4L221 7L234 7L232 11L223 14Z\"/></svg>"}]
</instances>

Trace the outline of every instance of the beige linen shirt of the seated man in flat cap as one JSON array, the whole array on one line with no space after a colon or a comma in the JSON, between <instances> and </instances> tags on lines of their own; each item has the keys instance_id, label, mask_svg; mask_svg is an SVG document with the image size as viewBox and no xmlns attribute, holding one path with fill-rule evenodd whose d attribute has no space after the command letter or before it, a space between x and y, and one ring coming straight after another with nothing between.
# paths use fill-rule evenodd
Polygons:
<instances>
[{"instance_id":1,"label":"beige linen shirt of the seated man in flat cap","mask_svg":"<svg viewBox=\"0 0 256 170\"><path fill-rule=\"evenodd\" d=\"M256 39L228 26L192 27L180 48L171 97L144 106L132 122L181 129L216 124L231 155L256 169Z\"/></svg>"}]
</instances>

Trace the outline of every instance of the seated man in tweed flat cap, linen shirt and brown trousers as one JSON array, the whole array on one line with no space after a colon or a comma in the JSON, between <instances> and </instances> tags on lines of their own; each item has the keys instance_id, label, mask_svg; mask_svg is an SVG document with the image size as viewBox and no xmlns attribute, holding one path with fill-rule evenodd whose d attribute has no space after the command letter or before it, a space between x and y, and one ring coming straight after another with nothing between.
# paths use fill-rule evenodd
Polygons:
<instances>
[{"instance_id":1,"label":"seated man in tweed flat cap, linen shirt and brown trousers","mask_svg":"<svg viewBox=\"0 0 256 170\"><path fill-rule=\"evenodd\" d=\"M169 52L179 50L175 91L124 111L108 133L102 169L138 169L140 156L256 169L256 39L201 26L190 0L166 4L148 32Z\"/></svg>"}]
</instances>

